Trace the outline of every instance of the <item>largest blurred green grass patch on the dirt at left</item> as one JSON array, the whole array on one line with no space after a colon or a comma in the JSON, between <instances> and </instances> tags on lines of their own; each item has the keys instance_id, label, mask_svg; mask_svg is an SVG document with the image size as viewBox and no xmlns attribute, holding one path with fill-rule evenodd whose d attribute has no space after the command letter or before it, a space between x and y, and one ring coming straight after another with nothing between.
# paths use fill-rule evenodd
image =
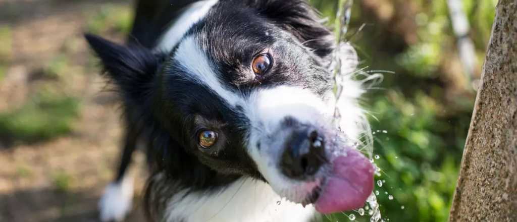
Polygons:
<instances>
[{"instance_id":1,"label":"largest blurred green grass patch on the dirt at left","mask_svg":"<svg viewBox=\"0 0 517 222\"><path fill-rule=\"evenodd\" d=\"M39 94L17 110L0 113L0 135L12 142L37 142L70 133L78 105L75 98Z\"/></svg>"}]
</instances>

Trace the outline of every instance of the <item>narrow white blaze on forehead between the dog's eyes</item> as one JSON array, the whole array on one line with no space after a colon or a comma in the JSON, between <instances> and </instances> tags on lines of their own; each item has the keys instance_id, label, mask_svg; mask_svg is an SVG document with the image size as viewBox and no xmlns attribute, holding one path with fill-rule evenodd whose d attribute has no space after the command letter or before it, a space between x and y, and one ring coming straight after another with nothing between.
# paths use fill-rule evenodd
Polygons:
<instances>
[{"instance_id":1,"label":"narrow white blaze on forehead between the dog's eyes","mask_svg":"<svg viewBox=\"0 0 517 222\"><path fill-rule=\"evenodd\" d=\"M236 106L243 100L239 94L223 85L218 77L218 71L214 70L194 36L188 36L179 43L174 60L185 69L185 77L206 86L231 106Z\"/></svg>"}]
</instances>

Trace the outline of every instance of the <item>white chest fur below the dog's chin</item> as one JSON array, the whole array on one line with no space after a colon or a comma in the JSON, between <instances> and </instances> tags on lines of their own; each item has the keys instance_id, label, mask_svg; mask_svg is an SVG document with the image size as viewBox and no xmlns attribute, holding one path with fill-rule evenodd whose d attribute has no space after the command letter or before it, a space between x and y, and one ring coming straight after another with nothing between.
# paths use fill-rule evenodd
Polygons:
<instances>
[{"instance_id":1,"label":"white chest fur below the dog's chin","mask_svg":"<svg viewBox=\"0 0 517 222\"><path fill-rule=\"evenodd\" d=\"M314 208L282 200L271 187L254 179L239 179L217 193L180 192L169 202L168 222L285 221L304 222L314 218Z\"/></svg>"}]
</instances>

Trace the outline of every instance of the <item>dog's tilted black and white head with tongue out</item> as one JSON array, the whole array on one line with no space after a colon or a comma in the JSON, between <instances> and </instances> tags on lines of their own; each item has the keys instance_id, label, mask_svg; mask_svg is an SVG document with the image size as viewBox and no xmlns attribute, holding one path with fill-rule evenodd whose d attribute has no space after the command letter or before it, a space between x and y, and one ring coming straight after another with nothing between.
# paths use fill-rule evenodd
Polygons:
<instances>
[{"instance_id":1,"label":"dog's tilted black and white head with tongue out","mask_svg":"<svg viewBox=\"0 0 517 222\"><path fill-rule=\"evenodd\" d=\"M173 146L158 148L168 150L160 160L185 153L323 213L359 208L371 194L373 166L348 142L361 130L360 89L344 86L338 130L333 38L306 3L221 1L165 52L87 40L126 108L166 132Z\"/></svg>"}]
</instances>

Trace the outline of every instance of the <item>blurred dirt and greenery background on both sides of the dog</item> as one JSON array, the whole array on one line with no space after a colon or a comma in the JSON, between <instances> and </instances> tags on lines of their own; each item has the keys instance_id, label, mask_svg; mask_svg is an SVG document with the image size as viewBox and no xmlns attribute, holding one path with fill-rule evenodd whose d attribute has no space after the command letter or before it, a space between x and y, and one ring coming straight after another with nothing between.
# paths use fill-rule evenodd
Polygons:
<instances>
[{"instance_id":1,"label":"blurred dirt and greenery background on both sides of the dog","mask_svg":"<svg viewBox=\"0 0 517 222\"><path fill-rule=\"evenodd\" d=\"M337 0L310 2L331 26ZM354 1L346 39L363 71L384 75L362 102L385 221L447 220L496 3ZM0 0L0 221L96 221L120 117L82 34L123 42L132 14L131 1ZM138 198L145 170L133 168ZM143 220L135 205L128 221ZM323 219L367 221L364 210Z\"/></svg>"}]
</instances>

